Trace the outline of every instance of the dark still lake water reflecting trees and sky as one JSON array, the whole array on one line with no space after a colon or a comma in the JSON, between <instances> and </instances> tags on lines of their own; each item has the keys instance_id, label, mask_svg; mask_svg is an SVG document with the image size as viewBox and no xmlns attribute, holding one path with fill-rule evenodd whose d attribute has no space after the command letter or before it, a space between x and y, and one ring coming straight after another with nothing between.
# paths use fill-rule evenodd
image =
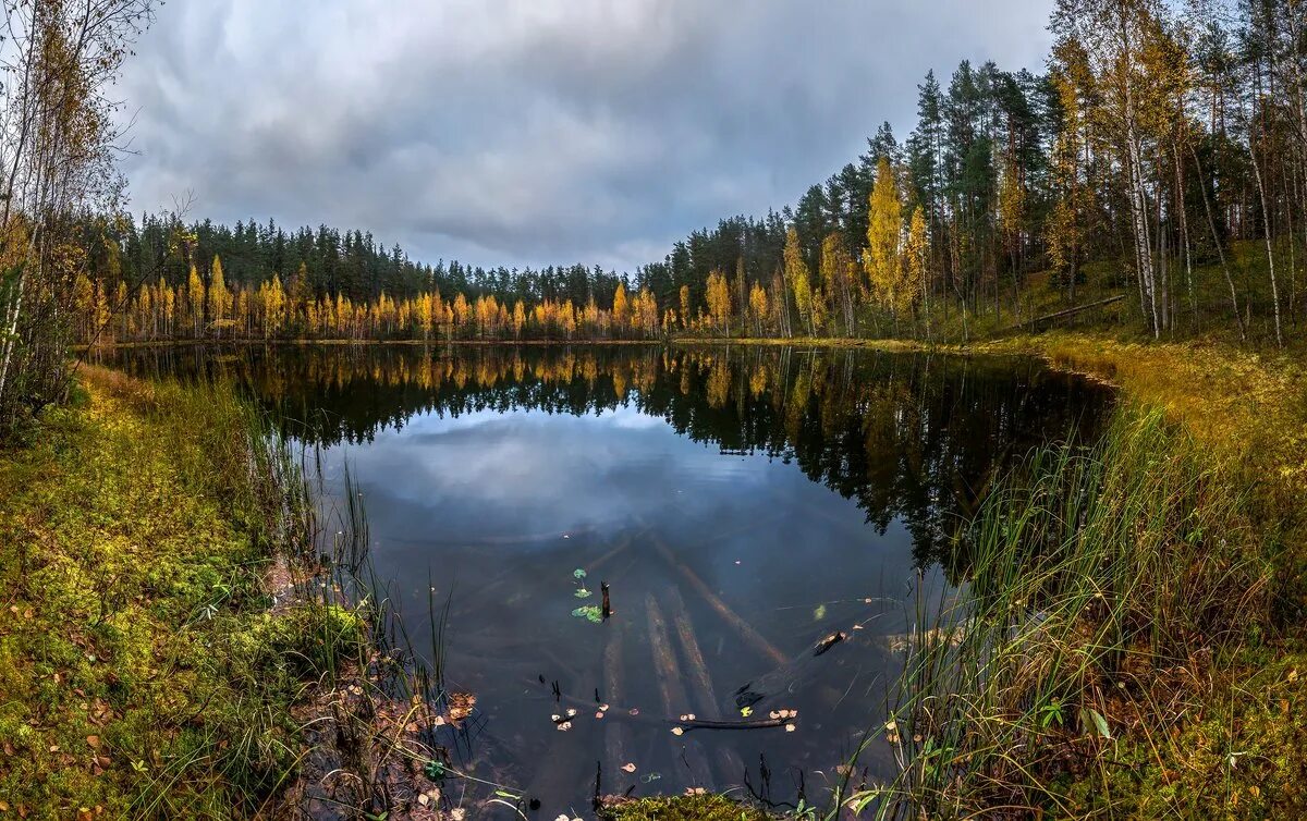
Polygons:
<instances>
[{"instance_id":1,"label":"dark still lake water reflecting trees and sky","mask_svg":"<svg viewBox=\"0 0 1307 821\"><path fill-rule=\"evenodd\" d=\"M797 348L192 348L115 363L227 371L324 446L336 493L348 460L416 646L430 646L429 601L450 603L448 686L477 712L442 741L464 771L538 797L541 818L588 814L600 763L605 792L819 800L884 719L911 608L965 570L950 543L979 493L1038 444L1093 437L1111 403L1027 360ZM613 617L574 614L601 583ZM672 732L742 707L797 719ZM890 774L887 745L863 763Z\"/></svg>"}]
</instances>

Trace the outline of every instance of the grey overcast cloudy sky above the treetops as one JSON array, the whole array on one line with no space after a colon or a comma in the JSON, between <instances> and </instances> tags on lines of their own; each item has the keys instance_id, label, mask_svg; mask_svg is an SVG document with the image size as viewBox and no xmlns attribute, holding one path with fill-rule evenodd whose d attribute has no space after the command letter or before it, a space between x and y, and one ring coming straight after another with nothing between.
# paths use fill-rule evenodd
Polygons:
<instances>
[{"instance_id":1,"label":"grey overcast cloudy sky above the treetops","mask_svg":"<svg viewBox=\"0 0 1307 821\"><path fill-rule=\"evenodd\" d=\"M477 264L661 259L793 203L1052 0L186 0L118 95L136 212L371 230Z\"/></svg>"}]
</instances>

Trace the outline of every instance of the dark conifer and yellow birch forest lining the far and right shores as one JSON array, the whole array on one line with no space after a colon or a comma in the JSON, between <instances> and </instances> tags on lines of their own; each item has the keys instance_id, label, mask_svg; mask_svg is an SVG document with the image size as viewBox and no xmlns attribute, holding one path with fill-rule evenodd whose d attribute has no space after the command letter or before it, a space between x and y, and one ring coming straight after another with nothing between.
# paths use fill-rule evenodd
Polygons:
<instances>
[{"instance_id":1,"label":"dark conifer and yellow birch forest lining the far and right shores","mask_svg":"<svg viewBox=\"0 0 1307 821\"><path fill-rule=\"evenodd\" d=\"M1129 294L1149 335L1282 345L1303 311L1303 14L1065 0L1047 67L928 73L918 122L792 208L618 273L418 263L361 230L85 217L81 343L966 337Z\"/></svg>"}]
</instances>

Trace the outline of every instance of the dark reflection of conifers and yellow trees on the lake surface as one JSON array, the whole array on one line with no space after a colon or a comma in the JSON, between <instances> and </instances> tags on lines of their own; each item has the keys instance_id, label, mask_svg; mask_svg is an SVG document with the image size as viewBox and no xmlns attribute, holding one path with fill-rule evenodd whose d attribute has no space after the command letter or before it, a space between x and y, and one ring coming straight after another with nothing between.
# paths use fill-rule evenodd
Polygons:
<instances>
[{"instance_id":1,"label":"dark reflection of conifers and yellow trees on the lake surface","mask_svg":"<svg viewBox=\"0 0 1307 821\"><path fill-rule=\"evenodd\" d=\"M314 443L366 442L418 413L589 414L634 407L728 452L793 460L855 498L884 531L899 518L937 557L996 472L1073 427L1108 392L1026 360L779 346L285 346L137 349L142 375L222 373Z\"/></svg>"}]
</instances>

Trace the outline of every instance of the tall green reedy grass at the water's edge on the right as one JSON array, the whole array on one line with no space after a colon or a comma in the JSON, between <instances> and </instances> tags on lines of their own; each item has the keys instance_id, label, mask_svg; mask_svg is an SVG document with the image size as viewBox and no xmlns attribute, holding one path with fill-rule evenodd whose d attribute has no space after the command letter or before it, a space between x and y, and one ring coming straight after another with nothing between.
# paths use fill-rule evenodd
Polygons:
<instances>
[{"instance_id":1,"label":"tall green reedy grass at the water's edge on the right","mask_svg":"<svg viewBox=\"0 0 1307 821\"><path fill-rule=\"evenodd\" d=\"M891 720L898 777L844 799L878 817L1110 811L1117 739L1162 758L1214 652L1268 611L1239 486L1161 412L1123 407L1091 448L1035 452L959 540L965 584L919 612ZM1086 807L1072 782L1098 784Z\"/></svg>"}]
</instances>

